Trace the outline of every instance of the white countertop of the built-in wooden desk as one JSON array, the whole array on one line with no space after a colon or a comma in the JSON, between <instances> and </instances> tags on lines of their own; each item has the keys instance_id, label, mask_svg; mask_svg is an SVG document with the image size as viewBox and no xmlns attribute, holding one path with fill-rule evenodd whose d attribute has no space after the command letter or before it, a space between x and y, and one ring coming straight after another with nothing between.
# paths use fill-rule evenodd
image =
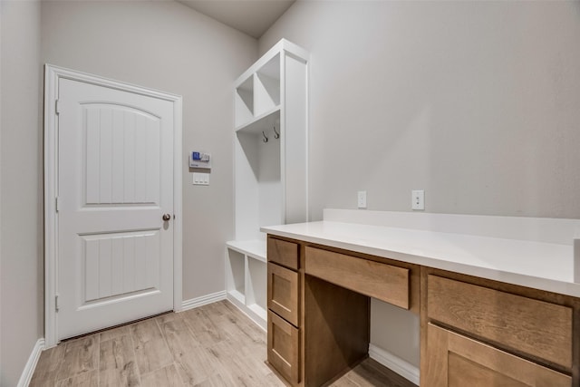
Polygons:
<instances>
[{"instance_id":1,"label":"white countertop of the built-in wooden desk","mask_svg":"<svg viewBox=\"0 0 580 387\"><path fill-rule=\"evenodd\" d=\"M574 247L501 237L324 220L261 231L330 247L580 297Z\"/></svg>"}]
</instances>

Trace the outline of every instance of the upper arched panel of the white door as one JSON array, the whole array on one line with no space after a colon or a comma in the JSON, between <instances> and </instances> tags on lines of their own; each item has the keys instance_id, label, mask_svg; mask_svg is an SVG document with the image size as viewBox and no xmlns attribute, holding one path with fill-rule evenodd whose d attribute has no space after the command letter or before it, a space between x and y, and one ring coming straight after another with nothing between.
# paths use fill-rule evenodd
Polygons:
<instances>
[{"instance_id":1,"label":"upper arched panel of the white door","mask_svg":"<svg viewBox=\"0 0 580 387\"><path fill-rule=\"evenodd\" d=\"M159 204L160 119L102 103L85 104L82 110L85 204Z\"/></svg>"}]
</instances>

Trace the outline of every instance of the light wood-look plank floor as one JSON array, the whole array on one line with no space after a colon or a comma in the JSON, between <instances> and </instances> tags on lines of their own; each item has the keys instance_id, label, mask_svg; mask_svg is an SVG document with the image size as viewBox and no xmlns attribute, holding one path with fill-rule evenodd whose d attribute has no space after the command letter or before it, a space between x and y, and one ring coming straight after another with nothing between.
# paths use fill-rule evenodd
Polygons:
<instances>
[{"instance_id":1,"label":"light wood-look plank floor","mask_svg":"<svg viewBox=\"0 0 580 387\"><path fill-rule=\"evenodd\" d=\"M31 386L280 386L266 333L227 301L163 314L42 353ZM332 384L413 387L366 360Z\"/></svg>"}]
</instances>

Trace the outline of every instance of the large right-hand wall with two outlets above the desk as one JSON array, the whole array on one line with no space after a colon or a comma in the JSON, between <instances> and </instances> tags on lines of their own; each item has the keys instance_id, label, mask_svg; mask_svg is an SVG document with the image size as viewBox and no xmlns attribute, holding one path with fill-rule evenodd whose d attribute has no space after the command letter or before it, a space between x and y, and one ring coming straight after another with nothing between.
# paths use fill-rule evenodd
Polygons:
<instances>
[{"instance_id":1,"label":"large right-hand wall with two outlets above the desk","mask_svg":"<svg viewBox=\"0 0 580 387\"><path fill-rule=\"evenodd\" d=\"M310 51L310 213L580 218L580 2L297 1L259 40ZM409 327L416 327L415 330ZM372 342L419 365L419 321Z\"/></svg>"}]
</instances>

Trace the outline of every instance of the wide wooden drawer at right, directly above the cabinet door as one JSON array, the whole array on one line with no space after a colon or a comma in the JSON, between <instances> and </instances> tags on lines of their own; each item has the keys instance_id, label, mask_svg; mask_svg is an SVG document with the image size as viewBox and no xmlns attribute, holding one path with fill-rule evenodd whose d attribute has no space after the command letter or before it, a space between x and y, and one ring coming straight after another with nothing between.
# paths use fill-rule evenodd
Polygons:
<instances>
[{"instance_id":1,"label":"wide wooden drawer at right, directly above the cabinet door","mask_svg":"<svg viewBox=\"0 0 580 387\"><path fill-rule=\"evenodd\" d=\"M572 309L430 275L429 318L572 367Z\"/></svg>"}]
</instances>

